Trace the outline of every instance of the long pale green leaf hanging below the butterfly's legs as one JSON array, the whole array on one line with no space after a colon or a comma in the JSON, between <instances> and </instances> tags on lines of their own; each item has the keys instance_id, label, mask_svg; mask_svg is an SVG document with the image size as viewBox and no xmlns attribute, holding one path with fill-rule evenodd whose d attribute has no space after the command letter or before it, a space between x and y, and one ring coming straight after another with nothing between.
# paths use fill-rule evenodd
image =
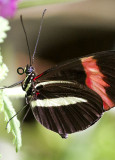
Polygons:
<instances>
[{"instance_id":1,"label":"long pale green leaf hanging below the butterfly's legs","mask_svg":"<svg viewBox=\"0 0 115 160\"><path fill-rule=\"evenodd\" d=\"M4 113L6 122L8 122L9 119L16 114L11 101L4 94L3 95L1 94L1 97L0 97L0 111ZM16 145L16 152L18 152L22 145L22 139L21 139L21 131L20 131L20 122L18 121L17 116L15 116L8 123L7 131L8 133L12 132L12 134L14 135L13 143Z\"/></svg>"}]
</instances>

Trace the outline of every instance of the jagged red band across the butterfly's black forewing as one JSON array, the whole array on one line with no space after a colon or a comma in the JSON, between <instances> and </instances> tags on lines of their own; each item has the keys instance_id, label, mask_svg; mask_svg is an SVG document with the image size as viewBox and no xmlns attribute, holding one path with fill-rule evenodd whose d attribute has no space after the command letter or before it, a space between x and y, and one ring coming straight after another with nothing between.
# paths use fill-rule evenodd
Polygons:
<instances>
[{"instance_id":1,"label":"jagged red band across the butterfly's black forewing","mask_svg":"<svg viewBox=\"0 0 115 160\"><path fill-rule=\"evenodd\" d=\"M86 72L86 85L94 90L103 100L103 107L105 110L109 110L114 107L114 103L108 97L106 88L110 87L103 78L105 77L96 64L96 59L93 56L81 58L82 65Z\"/></svg>"}]
</instances>

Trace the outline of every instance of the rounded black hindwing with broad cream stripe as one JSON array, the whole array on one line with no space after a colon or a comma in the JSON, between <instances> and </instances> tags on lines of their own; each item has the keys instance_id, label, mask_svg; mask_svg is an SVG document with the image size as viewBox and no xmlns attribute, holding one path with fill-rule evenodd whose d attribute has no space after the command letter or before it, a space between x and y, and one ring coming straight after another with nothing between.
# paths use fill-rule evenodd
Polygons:
<instances>
[{"instance_id":1,"label":"rounded black hindwing with broad cream stripe","mask_svg":"<svg viewBox=\"0 0 115 160\"><path fill-rule=\"evenodd\" d=\"M36 89L40 94L31 101L36 120L63 138L93 125L103 113L100 96L79 83L44 82Z\"/></svg>"}]
</instances>

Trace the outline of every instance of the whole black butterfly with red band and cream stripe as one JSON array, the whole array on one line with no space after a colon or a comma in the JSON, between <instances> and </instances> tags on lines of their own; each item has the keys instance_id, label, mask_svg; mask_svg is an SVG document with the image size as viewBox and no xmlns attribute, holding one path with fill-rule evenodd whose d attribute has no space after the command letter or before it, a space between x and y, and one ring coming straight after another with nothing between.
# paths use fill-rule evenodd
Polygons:
<instances>
[{"instance_id":1,"label":"whole black butterfly with red band and cream stripe","mask_svg":"<svg viewBox=\"0 0 115 160\"><path fill-rule=\"evenodd\" d=\"M40 32L36 47L39 35ZM21 83L26 103L44 127L67 138L68 134L92 126L105 111L115 106L115 51L69 60L39 75L31 60L35 52L25 69L17 69L18 74L26 75L17 84Z\"/></svg>"}]
</instances>

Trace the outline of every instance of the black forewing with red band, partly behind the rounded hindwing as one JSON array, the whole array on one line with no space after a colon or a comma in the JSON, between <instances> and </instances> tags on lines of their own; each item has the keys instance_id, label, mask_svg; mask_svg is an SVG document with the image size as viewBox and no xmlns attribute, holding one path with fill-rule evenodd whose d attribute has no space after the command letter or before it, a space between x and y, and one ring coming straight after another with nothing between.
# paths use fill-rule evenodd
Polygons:
<instances>
[{"instance_id":1,"label":"black forewing with red band, partly behind the rounded hindwing","mask_svg":"<svg viewBox=\"0 0 115 160\"><path fill-rule=\"evenodd\" d=\"M73 59L45 71L35 80L66 80L83 84L102 98L107 111L115 106L115 51Z\"/></svg>"}]
</instances>

